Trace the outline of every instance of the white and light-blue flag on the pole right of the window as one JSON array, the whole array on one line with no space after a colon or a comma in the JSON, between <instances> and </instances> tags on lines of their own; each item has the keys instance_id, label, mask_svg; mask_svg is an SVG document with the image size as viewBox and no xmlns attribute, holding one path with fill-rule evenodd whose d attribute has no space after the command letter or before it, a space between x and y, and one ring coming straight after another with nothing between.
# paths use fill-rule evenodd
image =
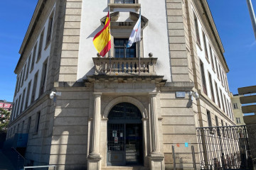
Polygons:
<instances>
[{"instance_id":1,"label":"white and light-blue flag on the pole right of the window","mask_svg":"<svg viewBox=\"0 0 256 170\"><path fill-rule=\"evenodd\" d=\"M127 48L131 47L134 42L141 40L141 12L139 11L139 19L137 23L135 24L134 28L132 29L132 33L129 37L129 41L127 43Z\"/></svg>"}]
</instances>

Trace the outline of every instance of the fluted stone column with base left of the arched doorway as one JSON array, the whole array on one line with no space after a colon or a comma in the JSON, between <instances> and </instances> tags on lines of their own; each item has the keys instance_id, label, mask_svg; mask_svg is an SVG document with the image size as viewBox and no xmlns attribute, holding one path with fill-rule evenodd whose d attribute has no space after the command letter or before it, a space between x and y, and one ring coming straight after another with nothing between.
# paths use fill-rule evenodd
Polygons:
<instances>
[{"instance_id":1,"label":"fluted stone column with base left of the arched doorway","mask_svg":"<svg viewBox=\"0 0 256 170\"><path fill-rule=\"evenodd\" d=\"M102 159L100 155L100 121L101 121L101 115L100 115L100 96L101 93L94 93L95 96L95 108L93 113L93 125L92 125L92 146L91 151L88 156L87 160L87 169L100 169L100 160Z\"/></svg>"}]
</instances>

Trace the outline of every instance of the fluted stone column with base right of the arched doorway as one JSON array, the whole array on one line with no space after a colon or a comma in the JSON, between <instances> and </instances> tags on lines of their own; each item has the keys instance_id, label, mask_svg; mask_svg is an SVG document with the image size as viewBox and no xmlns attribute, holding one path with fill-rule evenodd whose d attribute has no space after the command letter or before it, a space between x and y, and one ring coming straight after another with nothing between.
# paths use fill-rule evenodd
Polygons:
<instances>
[{"instance_id":1,"label":"fluted stone column with base right of the arched doorway","mask_svg":"<svg viewBox=\"0 0 256 170\"><path fill-rule=\"evenodd\" d=\"M160 152L159 147L159 125L157 113L156 96L158 93L149 93L150 105L150 131L151 131L151 152L149 157L150 169L164 170L164 155Z\"/></svg>"}]
</instances>

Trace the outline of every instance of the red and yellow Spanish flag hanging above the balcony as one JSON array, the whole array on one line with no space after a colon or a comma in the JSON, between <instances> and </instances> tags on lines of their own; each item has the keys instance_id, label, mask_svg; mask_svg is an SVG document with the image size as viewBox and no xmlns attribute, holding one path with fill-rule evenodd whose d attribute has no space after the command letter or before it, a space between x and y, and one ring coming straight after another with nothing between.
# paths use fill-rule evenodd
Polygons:
<instances>
[{"instance_id":1,"label":"red and yellow Spanish flag hanging above the balcony","mask_svg":"<svg viewBox=\"0 0 256 170\"><path fill-rule=\"evenodd\" d=\"M105 26L99 33L95 35L93 38L93 44L97 52L100 53L102 57L106 55L106 53L111 48L111 35L110 35L110 11L107 13L107 18L105 21Z\"/></svg>"}]
</instances>

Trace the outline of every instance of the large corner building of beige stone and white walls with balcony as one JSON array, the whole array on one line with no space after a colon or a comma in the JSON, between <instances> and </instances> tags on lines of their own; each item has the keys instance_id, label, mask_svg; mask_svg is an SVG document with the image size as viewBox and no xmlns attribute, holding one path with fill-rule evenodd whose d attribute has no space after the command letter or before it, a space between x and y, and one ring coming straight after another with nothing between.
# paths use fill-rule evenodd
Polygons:
<instances>
[{"instance_id":1,"label":"large corner building of beige stone and white walls with balcony","mask_svg":"<svg viewBox=\"0 0 256 170\"><path fill-rule=\"evenodd\" d=\"M112 48L97 57L108 9ZM126 49L139 10L142 40ZM196 128L235 125L207 1L39 0L19 53L6 139L28 134L26 164L173 169L174 148L193 169Z\"/></svg>"}]
</instances>

